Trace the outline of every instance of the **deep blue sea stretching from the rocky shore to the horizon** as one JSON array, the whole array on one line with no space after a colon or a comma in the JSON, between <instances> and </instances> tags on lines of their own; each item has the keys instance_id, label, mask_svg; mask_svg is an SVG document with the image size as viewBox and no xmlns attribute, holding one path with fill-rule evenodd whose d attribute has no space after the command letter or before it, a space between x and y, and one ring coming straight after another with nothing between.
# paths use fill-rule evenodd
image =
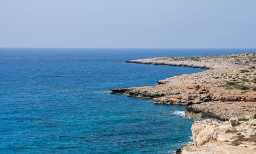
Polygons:
<instances>
[{"instance_id":1,"label":"deep blue sea stretching from the rocky shore to the horizon","mask_svg":"<svg viewBox=\"0 0 256 154\"><path fill-rule=\"evenodd\" d=\"M204 71L125 63L255 49L0 48L0 153L169 153L191 141L186 106L110 94ZM177 110L180 112L172 112Z\"/></svg>"}]
</instances>

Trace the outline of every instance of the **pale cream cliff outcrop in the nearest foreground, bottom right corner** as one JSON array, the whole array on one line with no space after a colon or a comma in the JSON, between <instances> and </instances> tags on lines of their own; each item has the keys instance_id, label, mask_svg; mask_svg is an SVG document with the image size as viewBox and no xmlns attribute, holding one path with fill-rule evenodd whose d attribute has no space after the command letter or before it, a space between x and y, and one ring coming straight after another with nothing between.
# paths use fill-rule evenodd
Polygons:
<instances>
[{"instance_id":1,"label":"pale cream cliff outcrop in the nearest foreground, bottom right corner","mask_svg":"<svg viewBox=\"0 0 256 154\"><path fill-rule=\"evenodd\" d=\"M196 121L191 127L194 142L177 153L255 153L256 119L247 118L230 118L222 123L211 119Z\"/></svg>"}]
</instances>

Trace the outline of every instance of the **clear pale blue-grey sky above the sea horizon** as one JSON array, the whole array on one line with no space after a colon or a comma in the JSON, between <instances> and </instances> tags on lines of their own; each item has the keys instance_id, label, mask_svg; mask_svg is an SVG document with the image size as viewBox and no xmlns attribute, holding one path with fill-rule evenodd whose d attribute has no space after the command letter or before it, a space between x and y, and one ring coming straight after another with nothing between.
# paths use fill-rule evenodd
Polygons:
<instances>
[{"instance_id":1,"label":"clear pale blue-grey sky above the sea horizon","mask_svg":"<svg viewBox=\"0 0 256 154\"><path fill-rule=\"evenodd\" d=\"M255 0L1 0L0 48L256 48Z\"/></svg>"}]
</instances>

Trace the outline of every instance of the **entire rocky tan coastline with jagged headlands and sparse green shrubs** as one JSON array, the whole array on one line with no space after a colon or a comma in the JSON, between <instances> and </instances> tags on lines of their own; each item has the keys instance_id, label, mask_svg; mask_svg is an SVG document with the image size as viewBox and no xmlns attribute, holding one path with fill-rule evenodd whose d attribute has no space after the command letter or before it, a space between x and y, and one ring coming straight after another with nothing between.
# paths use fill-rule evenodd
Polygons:
<instances>
[{"instance_id":1,"label":"entire rocky tan coastline with jagged headlands and sparse green shrubs","mask_svg":"<svg viewBox=\"0 0 256 154\"><path fill-rule=\"evenodd\" d=\"M256 153L256 53L205 57L161 57L126 61L207 69L158 80L156 86L111 89L113 94L189 105L199 117L193 143L177 153Z\"/></svg>"}]
</instances>

